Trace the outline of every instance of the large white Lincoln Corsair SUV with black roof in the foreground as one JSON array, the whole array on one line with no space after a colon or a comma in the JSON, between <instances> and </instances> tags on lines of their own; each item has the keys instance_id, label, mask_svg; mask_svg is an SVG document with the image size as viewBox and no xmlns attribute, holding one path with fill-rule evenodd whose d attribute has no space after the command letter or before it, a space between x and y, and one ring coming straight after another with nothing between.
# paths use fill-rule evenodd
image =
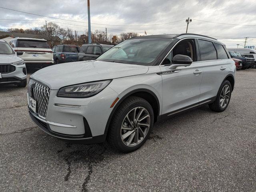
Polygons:
<instances>
[{"instance_id":1,"label":"large white Lincoln Corsair SUV with black roof in the foreground","mask_svg":"<svg viewBox=\"0 0 256 192\"><path fill-rule=\"evenodd\" d=\"M225 46L196 34L130 38L96 60L54 65L32 74L29 113L62 140L140 148L154 122L209 104L224 111L236 66Z\"/></svg>"}]
</instances>

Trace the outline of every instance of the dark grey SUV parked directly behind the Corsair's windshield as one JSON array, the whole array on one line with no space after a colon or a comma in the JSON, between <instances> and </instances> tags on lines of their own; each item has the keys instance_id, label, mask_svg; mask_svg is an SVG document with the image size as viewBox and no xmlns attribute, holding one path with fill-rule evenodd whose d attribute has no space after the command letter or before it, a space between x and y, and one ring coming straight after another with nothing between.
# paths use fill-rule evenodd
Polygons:
<instances>
[{"instance_id":1,"label":"dark grey SUV parked directly behind the Corsair's windshield","mask_svg":"<svg viewBox=\"0 0 256 192\"><path fill-rule=\"evenodd\" d=\"M79 61L94 60L113 46L114 45L104 45L99 43L83 44L78 54L78 60Z\"/></svg>"}]
</instances>

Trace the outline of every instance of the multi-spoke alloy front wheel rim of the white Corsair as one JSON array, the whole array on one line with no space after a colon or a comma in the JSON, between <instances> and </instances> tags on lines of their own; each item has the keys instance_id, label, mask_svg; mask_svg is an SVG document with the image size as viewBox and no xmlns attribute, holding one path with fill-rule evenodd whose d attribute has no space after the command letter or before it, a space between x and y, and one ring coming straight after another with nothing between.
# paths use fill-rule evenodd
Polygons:
<instances>
[{"instance_id":1,"label":"multi-spoke alloy front wheel rim of the white Corsair","mask_svg":"<svg viewBox=\"0 0 256 192\"><path fill-rule=\"evenodd\" d=\"M135 107L126 114L121 126L122 142L133 147L138 145L146 135L150 128L150 115L144 107Z\"/></svg>"}]
</instances>

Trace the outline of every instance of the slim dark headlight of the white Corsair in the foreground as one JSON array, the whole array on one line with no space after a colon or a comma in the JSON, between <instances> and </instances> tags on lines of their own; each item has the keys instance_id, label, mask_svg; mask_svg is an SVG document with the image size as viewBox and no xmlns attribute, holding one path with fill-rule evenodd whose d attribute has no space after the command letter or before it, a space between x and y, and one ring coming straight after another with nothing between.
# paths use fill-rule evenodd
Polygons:
<instances>
[{"instance_id":1,"label":"slim dark headlight of the white Corsair in the foreground","mask_svg":"<svg viewBox=\"0 0 256 192\"><path fill-rule=\"evenodd\" d=\"M104 80L90 83L83 83L63 87L59 90L57 97L86 98L101 92L112 80Z\"/></svg>"}]
</instances>

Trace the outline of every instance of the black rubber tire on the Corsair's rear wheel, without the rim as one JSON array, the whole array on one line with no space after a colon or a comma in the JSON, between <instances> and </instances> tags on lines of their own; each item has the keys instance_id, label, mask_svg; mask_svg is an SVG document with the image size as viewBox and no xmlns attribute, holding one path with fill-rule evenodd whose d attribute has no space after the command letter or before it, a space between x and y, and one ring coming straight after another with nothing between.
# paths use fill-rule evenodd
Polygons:
<instances>
[{"instance_id":1,"label":"black rubber tire on the Corsair's rear wheel, without the rim","mask_svg":"<svg viewBox=\"0 0 256 192\"><path fill-rule=\"evenodd\" d=\"M223 88L224 86L226 86L226 85L228 85L229 88L230 88L230 98L229 98L229 100L228 100L228 103L227 103L226 107L222 108L222 107L220 106L220 94L221 94L222 88ZM231 92L232 92L232 86L231 86L230 82L229 82L228 80L224 80L224 81L222 82L222 84L220 85L220 88L219 88L219 90L218 90L218 94L217 94L217 96L216 96L215 101L214 101L213 103L209 104L210 109L211 109L212 111L215 111L215 112L222 112L222 111L226 110L226 108L228 107L228 104L229 104L229 102L230 102L230 99L231 99Z\"/></svg>"}]
</instances>

